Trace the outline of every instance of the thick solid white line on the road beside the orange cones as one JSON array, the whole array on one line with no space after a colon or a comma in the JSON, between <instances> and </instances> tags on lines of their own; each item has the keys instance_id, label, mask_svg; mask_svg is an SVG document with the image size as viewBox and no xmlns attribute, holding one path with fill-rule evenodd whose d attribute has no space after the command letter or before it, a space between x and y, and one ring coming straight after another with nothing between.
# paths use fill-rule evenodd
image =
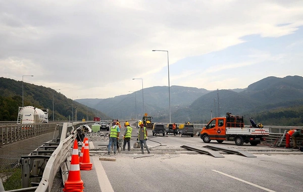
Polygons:
<instances>
[{"instance_id":1,"label":"thick solid white line on the road beside the orange cones","mask_svg":"<svg viewBox=\"0 0 303 192\"><path fill-rule=\"evenodd\" d=\"M114 192L112 184L98 157L92 157L93 165L97 172L98 182L102 192ZM101 184L102 183L102 184Z\"/></svg>"}]
</instances>

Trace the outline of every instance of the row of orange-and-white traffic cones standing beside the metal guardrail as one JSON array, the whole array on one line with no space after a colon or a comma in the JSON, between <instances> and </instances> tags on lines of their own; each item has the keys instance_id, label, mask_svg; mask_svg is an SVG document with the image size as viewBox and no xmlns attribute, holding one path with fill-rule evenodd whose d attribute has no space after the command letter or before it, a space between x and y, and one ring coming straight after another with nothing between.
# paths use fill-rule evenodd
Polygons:
<instances>
[{"instance_id":1,"label":"row of orange-and-white traffic cones standing beside the metal guardrail","mask_svg":"<svg viewBox=\"0 0 303 192\"><path fill-rule=\"evenodd\" d=\"M82 146L79 157L77 139L74 141L71 166L63 191L83 192L84 182L81 179L80 170L92 169L92 163L90 163L89 159L88 138L84 138L84 143L84 147Z\"/></svg>"}]
</instances>

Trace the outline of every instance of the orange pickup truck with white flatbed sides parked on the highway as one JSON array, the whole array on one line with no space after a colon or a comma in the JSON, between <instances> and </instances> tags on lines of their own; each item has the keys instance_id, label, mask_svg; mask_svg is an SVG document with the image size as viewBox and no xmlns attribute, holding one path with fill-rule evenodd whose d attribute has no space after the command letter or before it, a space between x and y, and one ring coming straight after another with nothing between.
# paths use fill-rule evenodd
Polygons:
<instances>
[{"instance_id":1,"label":"orange pickup truck with white flatbed sides parked on the highway","mask_svg":"<svg viewBox=\"0 0 303 192\"><path fill-rule=\"evenodd\" d=\"M269 129L258 127L244 127L243 116L226 114L226 117L213 118L200 132L200 138L208 143L211 140L223 142L235 141L237 146L250 143L257 146L265 136L269 135Z\"/></svg>"}]
</instances>

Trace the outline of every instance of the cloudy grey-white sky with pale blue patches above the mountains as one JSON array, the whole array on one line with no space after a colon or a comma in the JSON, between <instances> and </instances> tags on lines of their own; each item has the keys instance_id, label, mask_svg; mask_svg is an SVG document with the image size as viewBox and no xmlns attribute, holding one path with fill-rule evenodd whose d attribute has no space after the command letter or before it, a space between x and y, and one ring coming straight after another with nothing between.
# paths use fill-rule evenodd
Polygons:
<instances>
[{"instance_id":1,"label":"cloudy grey-white sky with pale blue patches above the mountains","mask_svg":"<svg viewBox=\"0 0 303 192\"><path fill-rule=\"evenodd\" d=\"M70 99L246 88L302 61L301 0L0 0L0 77Z\"/></svg>"}]
</instances>

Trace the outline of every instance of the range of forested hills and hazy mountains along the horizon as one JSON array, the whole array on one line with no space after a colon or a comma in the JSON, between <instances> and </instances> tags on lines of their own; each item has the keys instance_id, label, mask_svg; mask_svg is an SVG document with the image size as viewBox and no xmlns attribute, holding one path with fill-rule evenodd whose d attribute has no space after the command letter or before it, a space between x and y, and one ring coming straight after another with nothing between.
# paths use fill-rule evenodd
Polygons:
<instances>
[{"instance_id":1,"label":"range of forested hills and hazy mountains along the horizon","mask_svg":"<svg viewBox=\"0 0 303 192\"><path fill-rule=\"evenodd\" d=\"M169 93L167 86L155 86L107 99L78 99L72 101L48 87L24 83L24 103L48 108L50 118L55 103L55 119L69 120L72 105L77 107L77 120L86 116L102 119L141 119L144 113L154 122L169 122ZM0 78L0 121L17 119L22 106L22 81ZM211 117L227 112L243 115L271 125L303 125L303 77L267 77L244 89L207 90L204 88L171 86L172 122L207 123ZM144 99L144 107L142 101ZM21 103L20 103L21 102ZM143 109L144 108L144 109ZM16 114L17 111L17 114Z\"/></svg>"}]
</instances>

